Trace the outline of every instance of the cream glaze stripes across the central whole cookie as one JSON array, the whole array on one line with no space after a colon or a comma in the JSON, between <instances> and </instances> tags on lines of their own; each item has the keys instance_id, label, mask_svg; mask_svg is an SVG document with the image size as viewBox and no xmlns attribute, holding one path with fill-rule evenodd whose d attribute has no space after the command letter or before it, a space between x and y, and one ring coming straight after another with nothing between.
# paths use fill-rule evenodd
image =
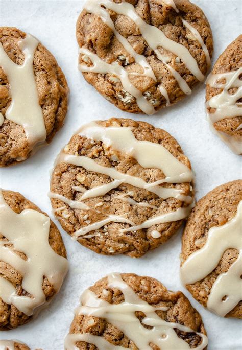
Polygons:
<instances>
[{"instance_id":1,"label":"cream glaze stripes across the central whole cookie","mask_svg":"<svg viewBox=\"0 0 242 350\"><path fill-rule=\"evenodd\" d=\"M138 141L132 132L132 128L130 127L103 127L96 122L91 122L83 126L79 130L79 135L94 141L102 141L105 147L111 147L115 151L125 153L130 157L133 157L143 168L156 168L162 170L165 178L153 183L147 183L139 177L119 172L114 167L101 166L94 159L87 156L67 154L65 153L65 150L63 150L58 156L57 162L72 164L78 167L83 167L91 172L108 175L111 179L113 179L113 181L83 192L83 195L78 201L71 200L53 192L49 193L51 198L59 199L68 204L71 208L94 210L99 212L98 207L91 208L86 205L83 200L104 196L110 190L117 188L120 184L126 183L155 193L157 196L159 196L159 198L167 199L173 197L190 205L178 208L176 211L158 215L142 222L140 225L135 225L124 215L105 214L107 215L107 218L76 230L73 234L74 238L78 239L79 237L84 236L90 231L98 229L109 222L123 222L130 224L131 226L129 228L122 230L123 232L128 232L136 231L142 228L149 228L152 225L182 220L189 215L193 207L192 198L190 196L185 196L182 190L159 186L161 183L190 182L193 178L192 171L186 165L182 164L168 150L166 150L165 147L149 141ZM132 205L137 204L137 202L131 198L125 197L126 196L123 196L121 199L124 201L129 201L129 203ZM139 203L139 205L149 206L149 204L145 202Z\"/></svg>"}]
</instances>

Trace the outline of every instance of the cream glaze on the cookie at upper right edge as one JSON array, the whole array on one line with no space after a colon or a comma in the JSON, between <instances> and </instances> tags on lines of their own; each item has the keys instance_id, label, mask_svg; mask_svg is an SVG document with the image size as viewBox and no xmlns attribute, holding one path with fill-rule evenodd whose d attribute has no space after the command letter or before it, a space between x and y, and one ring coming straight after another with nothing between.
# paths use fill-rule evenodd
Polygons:
<instances>
[{"instance_id":1,"label":"cream glaze on the cookie at upper right edge","mask_svg":"<svg viewBox=\"0 0 242 350\"><path fill-rule=\"evenodd\" d=\"M210 125L214 129L214 123L219 122L225 118L235 118L242 115L242 105L240 99L242 98L242 80L239 78L242 74L242 67L236 71L210 74L206 81L207 85L216 89L222 89L220 94L213 96L207 101L206 107L208 111L208 118ZM229 90L236 88L236 91L230 94ZM210 111L208 108L215 109ZM241 125L239 126L239 128ZM220 136L228 142L231 149L237 153L242 153L242 143L235 139L232 135L220 132Z\"/></svg>"}]
</instances>

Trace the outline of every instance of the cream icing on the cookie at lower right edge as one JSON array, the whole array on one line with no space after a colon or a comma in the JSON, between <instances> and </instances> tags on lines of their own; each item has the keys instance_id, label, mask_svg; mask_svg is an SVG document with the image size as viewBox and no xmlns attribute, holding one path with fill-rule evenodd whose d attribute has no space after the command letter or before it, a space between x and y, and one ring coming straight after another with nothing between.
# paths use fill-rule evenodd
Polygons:
<instances>
[{"instance_id":1,"label":"cream icing on the cookie at lower right edge","mask_svg":"<svg viewBox=\"0 0 242 350\"><path fill-rule=\"evenodd\" d=\"M184 284L193 284L205 278L219 264L227 249L237 249L237 260L226 273L221 273L208 296L207 307L220 316L230 312L242 300L242 201L236 215L222 226L213 226L208 231L205 245L188 256L181 267ZM224 297L225 300L222 300Z\"/></svg>"}]
</instances>

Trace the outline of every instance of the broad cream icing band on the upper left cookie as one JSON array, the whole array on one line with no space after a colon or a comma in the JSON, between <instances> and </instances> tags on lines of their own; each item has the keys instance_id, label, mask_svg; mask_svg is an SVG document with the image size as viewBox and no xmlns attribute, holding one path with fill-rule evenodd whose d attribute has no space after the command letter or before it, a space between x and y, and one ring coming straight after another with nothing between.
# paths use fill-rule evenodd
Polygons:
<instances>
[{"instance_id":1,"label":"broad cream icing band on the upper left cookie","mask_svg":"<svg viewBox=\"0 0 242 350\"><path fill-rule=\"evenodd\" d=\"M18 46L25 55L22 65L14 63L0 43L0 66L8 78L12 98L5 117L25 129L31 149L46 139L33 69L34 53L38 43L39 41L30 34L18 41Z\"/></svg>"}]
</instances>

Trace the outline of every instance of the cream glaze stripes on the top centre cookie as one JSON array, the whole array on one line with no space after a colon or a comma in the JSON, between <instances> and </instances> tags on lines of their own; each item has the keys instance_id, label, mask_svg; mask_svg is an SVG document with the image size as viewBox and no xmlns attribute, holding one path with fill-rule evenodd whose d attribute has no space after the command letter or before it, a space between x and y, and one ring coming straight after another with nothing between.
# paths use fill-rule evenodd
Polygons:
<instances>
[{"instance_id":1,"label":"cream glaze stripes on the top centre cookie","mask_svg":"<svg viewBox=\"0 0 242 350\"><path fill-rule=\"evenodd\" d=\"M168 6L173 7L178 12L173 0L167 0L164 3ZM99 58L98 55L90 52L90 50L84 47L82 47L79 52L83 54L84 61L88 62L88 58L89 58L93 65L88 66L86 64L79 64L79 69L81 72L113 74L114 76L118 77L118 79L120 79L124 89L130 95L136 98L137 105L143 112L147 114L153 114L155 112L154 107L149 103L149 101L146 100L146 97L143 96L142 92L138 90L129 80L129 75L140 75L140 76L150 77L156 81L154 72L150 64L147 62L146 57L144 55L137 54L133 49L133 47L131 46L131 44L128 42L128 40L118 33L118 31L115 29L114 23L108 11L104 9L102 6L105 6L106 9L112 10L117 14L122 14L124 16L127 16L130 20L132 20L136 24L141 35L147 41L150 48L154 51L157 58L161 62L163 62L163 64L168 69L168 71L170 71L170 73L177 80L178 85L181 88L181 90L184 92L184 94L189 95L191 93L190 87L188 86L187 82L182 78L182 76L170 64L167 63L167 58L160 53L160 51L158 50L159 47L162 47L165 50L168 50L173 54L175 54L179 58L179 60L180 59L182 60L182 62L189 69L191 74L193 74L193 76L195 76L199 81L204 80L204 75L200 71L197 61L195 60L195 58L192 57L189 50L185 48L185 46L171 39L168 39L160 29L158 29L155 26L149 25L146 21L144 21L141 17L138 16L132 4L127 3L125 1L123 1L122 3L114 3L111 0L96 0L95 2L93 2L92 0L87 0L87 2L84 5L84 9L88 13L93 13L98 15L103 20L103 22L112 29L114 35L120 41L120 43L122 43L125 50L134 58L135 62L142 67L143 73L127 72L126 69L123 68L122 65L119 65L117 61L109 64L104 60L102 60L101 58ZM187 21L183 20L183 25L186 28L188 28L188 30L200 43L206 56L207 65L209 66L210 56L201 35ZM167 105L169 105L168 98L167 98L167 91L165 87L160 86L159 89L161 94L165 97L167 101Z\"/></svg>"}]
</instances>

